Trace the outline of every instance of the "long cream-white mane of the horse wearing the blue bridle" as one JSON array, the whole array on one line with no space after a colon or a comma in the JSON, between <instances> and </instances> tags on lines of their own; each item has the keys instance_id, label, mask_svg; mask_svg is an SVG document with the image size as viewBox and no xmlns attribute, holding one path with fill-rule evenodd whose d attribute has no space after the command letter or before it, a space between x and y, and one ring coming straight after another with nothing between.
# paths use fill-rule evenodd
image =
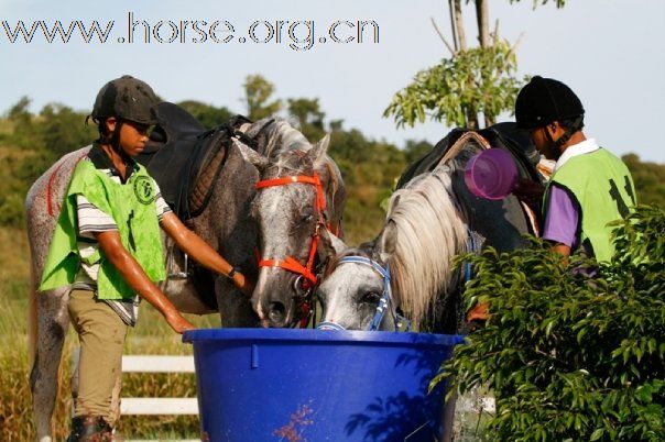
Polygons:
<instances>
[{"instance_id":1,"label":"long cream-white mane of the horse wearing the blue bridle","mask_svg":"<svg viewBox=\"0 0 665 442\"><path fill-rule=\"evenodd\" d=\"M467 225L453 196L453 166L419 175L390 199L386 224L394 222L397 235L390 257L393 296L416 324L432 319L437 295L450 285L450 261L466 247Z\"/></svg>"}]
</instances>

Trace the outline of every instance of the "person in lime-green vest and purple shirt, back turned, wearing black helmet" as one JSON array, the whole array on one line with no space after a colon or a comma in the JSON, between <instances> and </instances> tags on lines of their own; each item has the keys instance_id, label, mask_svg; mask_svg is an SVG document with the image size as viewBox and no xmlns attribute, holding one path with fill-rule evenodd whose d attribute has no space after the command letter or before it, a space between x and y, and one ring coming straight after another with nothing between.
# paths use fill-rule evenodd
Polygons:
<instances>
[{"instance_id":1,"label":"person in lime-green vest and purple shirt, back turned, wearing black helmet","mask_svg":"<svg viewBox=\"0 0 665 442\"><path fill-rule=\"evenodd\" d=\"M636 203L628 167L585 136L582 103L558 80L533 77L517 95L515 118L538 151L556 161L544 189L542 237L565 257L581 250L609 262L614 247L608 223L625 218ZM522 184L514 192L528 190L534 189Z\"/></svg>"}]
</instances>

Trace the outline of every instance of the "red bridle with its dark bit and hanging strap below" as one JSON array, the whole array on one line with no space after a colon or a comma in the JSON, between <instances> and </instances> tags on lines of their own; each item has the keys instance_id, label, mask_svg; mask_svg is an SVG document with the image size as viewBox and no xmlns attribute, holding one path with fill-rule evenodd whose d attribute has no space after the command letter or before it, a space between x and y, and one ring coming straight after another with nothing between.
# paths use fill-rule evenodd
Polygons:
<instances>
[{"instance_id":1,"label":"red bridle with its dark bit and hanging strap below","mask_svg":"<svg viewBox=\"0 0 665 442\"><path fill-rule=\"evenodd\" d=\"M316 189L316 196L314 198L314 208L316 211L316 229L312 235L312 244L309 246L309 253L305 265L301 264L298 259L293 256L286 256L282 259L279 258L262 258L259 256L259 267L280 267L286 272L298 275L294 283L294 289L298 294L298 298L302 302L302 319L301 327L306 327L310 316L310 299L309 295L312 288L318 283L318 278L315 274L314 261L316 258L316 251L318 250L318 243L320 241L320 230L326 229L326 196L321 186L321 180L318 174L315 172L313 176L306 175L293 175L280 178L264 179L257 183L257 189L265 189L274 186L286 186L291 184L306 184L314 186Z\"/></svg>"}]
</instances>

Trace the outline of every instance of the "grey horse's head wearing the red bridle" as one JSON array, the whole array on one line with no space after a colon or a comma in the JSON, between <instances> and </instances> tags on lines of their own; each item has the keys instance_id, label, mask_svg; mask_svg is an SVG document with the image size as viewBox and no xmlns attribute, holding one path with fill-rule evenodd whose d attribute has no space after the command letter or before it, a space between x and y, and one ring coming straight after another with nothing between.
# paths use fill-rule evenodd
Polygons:
<instances>
[{"instance_id":1,"label":"grey horse's head wearing the red bridle","mask_svg":"<svg viewBox=\"0 0 665 442\"><path fill-rule=\"evenodd\" d=\"M284 121L253 159L261 179L252 214L259 225L259 277L254 310L268 327L306 323L317 284L319 243L324 231L341 221L344 183L326 154L329 136L312 145Z\"/></svg>"}]
</instances>

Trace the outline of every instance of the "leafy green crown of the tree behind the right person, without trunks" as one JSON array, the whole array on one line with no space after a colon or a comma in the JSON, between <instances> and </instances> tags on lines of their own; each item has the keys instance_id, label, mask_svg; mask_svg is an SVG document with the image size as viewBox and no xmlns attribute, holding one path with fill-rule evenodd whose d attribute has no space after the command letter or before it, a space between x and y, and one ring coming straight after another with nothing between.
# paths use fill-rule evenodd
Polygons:
<instances>
[{"instance_id":1,"label":"leafy green crown of the tree behind the right person, without trunks","mask_svg":"<svg viewBox=\"0 0 665 442\"><path fill-rule=\"evenodd\" d=\"M421 70L395 93L383 115L393 117L397 128L427 118L449 126L478 126L479 113L493 120L502 111L512 112L521 85L516 67L510 44L495 38L490 47L464 51Z\"/></svg>"}]
</instances>

